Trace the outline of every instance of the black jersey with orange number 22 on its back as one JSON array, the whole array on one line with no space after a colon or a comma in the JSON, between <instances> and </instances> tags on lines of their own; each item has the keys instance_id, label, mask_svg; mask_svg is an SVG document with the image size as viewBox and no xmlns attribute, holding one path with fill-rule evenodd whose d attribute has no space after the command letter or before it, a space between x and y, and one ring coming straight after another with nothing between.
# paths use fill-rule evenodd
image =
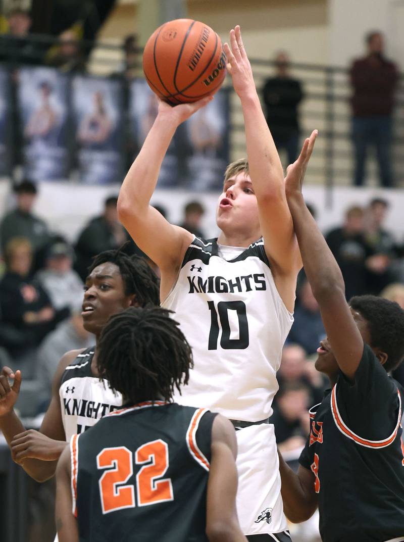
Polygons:
<instances>
[{"instance_id":1,"label":"black jersey with orange number 22 on its back","mask_svg":"<svg viewBox=\"0 0 404 542\"><path fill-rule=\"evenodd\" d=\"M147 401L70 441L80 542L207 542L207 409Z\"/></svg>"}]
</instances>

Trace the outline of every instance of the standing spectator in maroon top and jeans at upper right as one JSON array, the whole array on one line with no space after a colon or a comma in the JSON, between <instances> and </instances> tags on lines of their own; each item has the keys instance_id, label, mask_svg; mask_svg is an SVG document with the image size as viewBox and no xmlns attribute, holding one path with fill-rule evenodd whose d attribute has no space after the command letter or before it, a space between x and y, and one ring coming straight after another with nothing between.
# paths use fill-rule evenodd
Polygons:
<instances>
[{"instance_id":1,"label":"standing spectator in maroon top and jeans at upper right","mask_svg":"<svg viewBox=\"0 0 404 542\"><path fill-rule=\"evenodd\" d=\"M355 185L362 186L368 147L376 148L380 182L393 186L390 164L392 113L398 82L395 64L384 54L383 35L372 31L366 36L367 55L354 61L350 79L354 89L353 140L355 146Z\"/></svg>"}]
</instances>

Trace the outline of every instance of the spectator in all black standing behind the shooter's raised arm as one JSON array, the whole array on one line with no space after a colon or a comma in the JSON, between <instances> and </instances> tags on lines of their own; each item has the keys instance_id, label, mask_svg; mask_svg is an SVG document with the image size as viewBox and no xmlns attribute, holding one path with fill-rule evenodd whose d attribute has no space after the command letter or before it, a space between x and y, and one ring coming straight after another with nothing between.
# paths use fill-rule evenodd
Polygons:
<instances>
[{"instance_id":1,"label":"spectator in all black standing behind the shooter's raised arm","mask_svg":"<svg viewBox=\"0 0 404 542\"><path fill-rule=\"evenodd\" d=\"M290 76L290 59L283 51L275 58L275 77L267 79L263 88L266 121L278 150L285 149L288 163L297 158L299 119L297 106L303 98L300 81Z\"/></svg>"}]
</instances>

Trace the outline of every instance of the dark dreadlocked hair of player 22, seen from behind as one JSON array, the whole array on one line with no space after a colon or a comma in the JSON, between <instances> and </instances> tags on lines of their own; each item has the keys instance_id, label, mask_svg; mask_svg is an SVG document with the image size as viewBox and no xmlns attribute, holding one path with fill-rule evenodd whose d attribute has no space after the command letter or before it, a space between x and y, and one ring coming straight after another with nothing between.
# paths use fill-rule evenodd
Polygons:
<instances>
[{"instance_id":1,"label":"dark dreadlocked hair of player 22, seen from behind","mask_svg":"<svg viewBox=\"0 0 404 542\"><path fill-rule=\"evenodd\" d=\"M97 344L101 378L132 403L180 393L193 367L192 350L170 312L161 307L129 307L114 314Z\"/></svg>"}]
</instances>

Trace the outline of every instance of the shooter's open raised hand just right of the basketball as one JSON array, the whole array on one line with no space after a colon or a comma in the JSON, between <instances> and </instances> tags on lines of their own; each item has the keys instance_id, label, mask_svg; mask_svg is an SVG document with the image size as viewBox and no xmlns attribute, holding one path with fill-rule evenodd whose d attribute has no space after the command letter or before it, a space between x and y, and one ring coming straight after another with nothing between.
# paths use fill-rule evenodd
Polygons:
<instances>
[{"instance_id":1,"label":"shooter's open raised hand just right of the basketball","mask_svg":"<svg viewBox=\"0 0 404 542\"><path fill-rule=\"evenodd\" d=\"M233 80L233 87L240 98L256 93L250 61L245 52L242 33L239 25L230 30L230 45L225 43L223 48L227 56L227 72Z\"/></svg>"}]
</instances>

